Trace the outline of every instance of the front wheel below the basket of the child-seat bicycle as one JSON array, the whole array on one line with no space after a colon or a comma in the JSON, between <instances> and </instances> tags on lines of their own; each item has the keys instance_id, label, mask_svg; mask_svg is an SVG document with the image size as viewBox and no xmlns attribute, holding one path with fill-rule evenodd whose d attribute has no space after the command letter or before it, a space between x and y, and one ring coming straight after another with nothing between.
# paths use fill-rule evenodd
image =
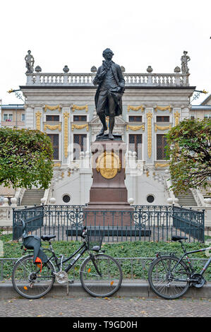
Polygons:
<instances>
[{"instance_id":1,"label":"front wheel below the basket of the child-seat bicycle","mask_svg":"<svg viewBox=\"0 0 211 332\"><path fill-rule=\"evenodd\" d=\"M80 268L80 281L83 288L92 296L108 297L113 295L122 282L121 266L111 256L96 254L94 263L89 257Z\"/></svg>"}]
</instances>

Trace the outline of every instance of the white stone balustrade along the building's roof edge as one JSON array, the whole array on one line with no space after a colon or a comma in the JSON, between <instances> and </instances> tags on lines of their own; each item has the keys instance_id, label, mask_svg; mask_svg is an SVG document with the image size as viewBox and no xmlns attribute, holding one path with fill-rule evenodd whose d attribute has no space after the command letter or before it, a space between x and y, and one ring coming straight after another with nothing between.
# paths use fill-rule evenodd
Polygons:
<instances>
[{"instance_id":1,"label":"white stone balustrade along the building's roof edge","mask_svg":"<svg viewBox=\"0 0 211 332\"><path fill-rule=\"evenodd\" d=\"M28 73L26 85L93 86L96 73ZM189 74L123 73L126 86L188 86Z\"/></svg>"}]
</instances>

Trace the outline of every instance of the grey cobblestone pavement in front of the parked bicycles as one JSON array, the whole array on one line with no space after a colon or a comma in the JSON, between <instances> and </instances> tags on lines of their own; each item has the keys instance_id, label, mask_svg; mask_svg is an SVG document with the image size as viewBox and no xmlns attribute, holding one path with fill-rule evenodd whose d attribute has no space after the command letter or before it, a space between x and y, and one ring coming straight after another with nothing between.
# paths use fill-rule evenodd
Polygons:
<instances>
[{"instance_id":1,"label":"grey cobblestone pavement in front of the parked bicycles","mask_svg":"<svg viewBox=\"0 0 211 332\"><path fill-rule=\"evenodd\" d=\"M210 317L211 300L44 297L0 300L0 317Z\"/></svg>"}]
</instances>

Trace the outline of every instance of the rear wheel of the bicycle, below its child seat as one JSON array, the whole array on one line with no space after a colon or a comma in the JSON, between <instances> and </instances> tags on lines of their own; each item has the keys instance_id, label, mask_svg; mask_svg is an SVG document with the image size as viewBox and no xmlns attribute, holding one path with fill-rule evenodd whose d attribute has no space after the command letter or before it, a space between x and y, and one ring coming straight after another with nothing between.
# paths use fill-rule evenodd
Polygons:
<instances>
[{"instance_id":1,"label":"rear wheel of the bicycle, below its child seat","mask_svg":"<svg viewBox=\"0 0 211 332\"><path fill-rule=\"evenodd\" d=\"M13 268L12 283L16 292L27 299L38 299L51 290L55 276L53 264L33 263L33 256L24 256Z\"/></svg>"}]
</instances>

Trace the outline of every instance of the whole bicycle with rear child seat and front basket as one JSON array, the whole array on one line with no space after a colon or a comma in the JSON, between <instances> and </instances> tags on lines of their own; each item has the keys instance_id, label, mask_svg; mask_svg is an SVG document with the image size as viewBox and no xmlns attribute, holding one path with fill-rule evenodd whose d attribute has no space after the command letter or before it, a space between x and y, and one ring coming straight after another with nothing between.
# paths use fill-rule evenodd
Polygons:
<instances>
[{"instance_id":1,"label":"whole bicycle with rear child seat and front basket","mask_svg":"<svg viewBox=\"0 0 211 332\"><path fill-rule=\"evenodd\" d=\"M84 290L93 297L109 297L117 292L122 282L121 266L116 259L104 254L104 251L100 251L103 236L95 236L95 240L92 242L92 237L87 234L86 227L83 228L80 236L83 241L80 248L66 259L64 259L64 255L60 255L59 258L51 243L51 239L56 235L42 235L41 238L35 235L27 236L23 222L21 248L25 247L25 253L27 249L33 249L31 251L33 254L22 256L13 268L12 283L16 292L28 299L38 299L52 289L55 281L60 284L73 283L73 280L68 280L68 271L86 251L89 256L81 263L79 271L80 282ZM41 239L49 242L49 249L42 250ZM44 251L51 253L49 257ZM55 264L52 262L53 260ZM64 263L67 261L71 262L63 270Z\"/></svg>"}]
</instances>

